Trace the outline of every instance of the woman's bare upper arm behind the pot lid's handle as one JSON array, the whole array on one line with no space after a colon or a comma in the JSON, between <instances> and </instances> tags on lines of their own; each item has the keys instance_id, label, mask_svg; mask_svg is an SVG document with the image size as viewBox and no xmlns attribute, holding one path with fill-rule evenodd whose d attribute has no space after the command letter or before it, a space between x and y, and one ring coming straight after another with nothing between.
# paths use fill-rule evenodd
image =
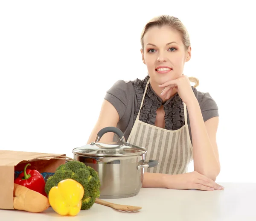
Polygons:
<instances>
[{"instance_id":1,"label":"woman's bare upper arm behind the pot lid's handle","mask_svg":"<svg viewBox=\"0 0 256 221\"><path fill-rule=\"evenodd\" d=\"M87 144L94 142L98 132L105 127L116 127L119 121L119 114L116 108L104 99L102 102L102 108L99 113L99 118L90 134ZM113 140L114 133L108 132L102 136L100 142L111 142Z\"/></svg>"}]
</instances>

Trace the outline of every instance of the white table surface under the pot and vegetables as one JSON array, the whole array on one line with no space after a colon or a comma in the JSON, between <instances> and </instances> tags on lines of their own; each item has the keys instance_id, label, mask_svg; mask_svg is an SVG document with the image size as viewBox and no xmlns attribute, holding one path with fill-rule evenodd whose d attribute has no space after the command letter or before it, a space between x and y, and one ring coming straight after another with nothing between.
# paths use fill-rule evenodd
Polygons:
<instances>
[{"instance_id":1,"label":"white table surface under the pot and vegetables","mask_svg":"<svg viewBox=\"0 0 256 221\"><path fill-rule=\"evenodd\" d=\"M200 191L142 188L137 196L106 199L141 206L140 212L119 212L93 204L74 217L60 216L50 207L42 213L0 209L0 221L256 221L256 183L219 183L224 190Z\"/></svg>"}]
</instances>

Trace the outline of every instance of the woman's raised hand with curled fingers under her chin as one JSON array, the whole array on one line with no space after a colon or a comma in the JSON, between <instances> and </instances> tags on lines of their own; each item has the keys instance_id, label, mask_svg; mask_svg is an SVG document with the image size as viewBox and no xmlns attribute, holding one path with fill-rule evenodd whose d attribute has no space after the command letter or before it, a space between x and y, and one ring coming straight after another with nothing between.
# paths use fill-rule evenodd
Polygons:
<instances>
[{"instance_id":1,"label":"woman's raised hand with curled fingers under her chin","mask_svg":"<svg viewBox=\"0 0 256 221\"><path fill-rule=\"evenodd\" d=\"M175 88L182 99L182 101L188 106L189 102L194 102L196 99L195 94L191 88L189 78L185 75L180 76L177 79L166 81L164 84L159 85L158 87L163 88L161 96L169 99L172 93L172 90Z\"/></svg>"}]
</instances>

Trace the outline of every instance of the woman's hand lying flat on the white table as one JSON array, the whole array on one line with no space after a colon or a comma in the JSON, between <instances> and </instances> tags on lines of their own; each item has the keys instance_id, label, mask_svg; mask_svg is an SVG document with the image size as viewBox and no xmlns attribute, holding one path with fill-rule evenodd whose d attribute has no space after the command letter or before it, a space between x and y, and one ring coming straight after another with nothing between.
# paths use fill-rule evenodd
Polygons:
<instances>
[{"instance_id":1,"label":"woman's hand lying flat on the white table","mask_svg":"<svg viewBox=\"0 0 256 221\"><path fill-rule=\"evenodd\" d=\"M196 171L171 176L167 174L165 184L168 189L199 189L206 191L224 189L223 186Z\"/></svg>"}]
</instances>

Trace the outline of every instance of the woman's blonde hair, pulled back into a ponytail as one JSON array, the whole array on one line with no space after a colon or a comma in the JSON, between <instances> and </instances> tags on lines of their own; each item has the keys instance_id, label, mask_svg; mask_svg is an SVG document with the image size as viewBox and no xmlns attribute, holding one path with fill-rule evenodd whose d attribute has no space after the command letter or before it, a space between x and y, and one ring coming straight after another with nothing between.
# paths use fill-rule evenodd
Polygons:
<instances>
[{"instance_id":1,"label":"woman's blonde hair, pulled back into a ponytail","mask_svg":"<svg viewBox=\"0 0 256 221\"><path fill-rule=\"evenodd\" d=\"M157 17L152 18L144 27L141 37L140 37L140 44L142 49L144 50L144 35L150 29L151 27L162 27L162 26L169 26L172 29L175 29L176 31L180 32L182 42L185 46L185 49L188 49L190 44L190 39L189 39L189 33L186 29L186 27L183 25L183 23L174 16L170 15L160 15ZM193 87L197 87L199 85L199 80L195 77L189 77L189 81L195 83Z\"/></svg>"}]
</instances>

